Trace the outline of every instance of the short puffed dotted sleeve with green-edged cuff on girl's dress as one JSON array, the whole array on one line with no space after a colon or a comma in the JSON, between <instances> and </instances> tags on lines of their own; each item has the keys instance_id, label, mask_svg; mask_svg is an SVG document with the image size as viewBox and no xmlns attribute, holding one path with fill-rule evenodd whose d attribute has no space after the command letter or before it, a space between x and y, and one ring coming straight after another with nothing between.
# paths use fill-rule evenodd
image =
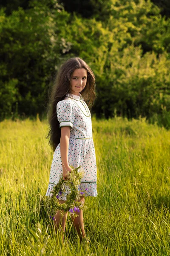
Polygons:
<instances>
[{"instance_id":1,"label":"short puffed dotted sleeve with green-edged cuff on girl's dress","mask_svg":"<svg viewBox=\"0 0 170 256\"><path fill-rule=\"evenodd\" d=\"M74 106L67 101L60 101L57 103L57 119L59 121L59 128L62 126L74 125Z\"/></svg>"}]
</instances>

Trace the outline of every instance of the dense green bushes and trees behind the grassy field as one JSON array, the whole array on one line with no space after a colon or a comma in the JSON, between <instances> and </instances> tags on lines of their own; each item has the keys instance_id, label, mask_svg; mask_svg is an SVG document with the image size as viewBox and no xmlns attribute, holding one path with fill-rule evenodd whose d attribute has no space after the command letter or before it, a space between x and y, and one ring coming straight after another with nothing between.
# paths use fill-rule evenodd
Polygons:
<instances>
[{"instance_id":1,"label":"dense green bushes and trees behind the grassy field","mask_svg":"<svg viewBox=\"0 0 170 256\"><path fill-rule=\"evenodd\" d=\"M94 6L89 19L56 0L32 0L8 16L1 8L0 119L41 117L59 65L79 56L96 75L97 116L147 116L170 126L170 19L150 1L86 4Z\"/></svg>"}]
</instances>

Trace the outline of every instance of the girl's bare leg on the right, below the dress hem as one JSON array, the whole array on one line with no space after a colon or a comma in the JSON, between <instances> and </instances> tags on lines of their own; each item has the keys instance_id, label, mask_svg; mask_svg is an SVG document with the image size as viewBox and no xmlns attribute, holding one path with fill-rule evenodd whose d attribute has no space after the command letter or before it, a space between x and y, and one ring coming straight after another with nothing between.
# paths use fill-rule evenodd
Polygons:
<instances>
[{"instance_id":1,"label":"girl's bare leg on the right, below the dress hem","mask_svg":"<svg viewBox=\"0 0 170 256\"><path fill-rule=\"evenodd\" d=\"M85 203L85 198L81 197L80 200L82 204ZM80 212L76 212L78 214L77 217L71 216L71 219L73 221L74 228L77 230L77 233L79 235L80 241L82 241L82 238L85 237L85 229L84 229L84 222L83 222L83 211L80 210Z\"/></svg>"}]
</instances>

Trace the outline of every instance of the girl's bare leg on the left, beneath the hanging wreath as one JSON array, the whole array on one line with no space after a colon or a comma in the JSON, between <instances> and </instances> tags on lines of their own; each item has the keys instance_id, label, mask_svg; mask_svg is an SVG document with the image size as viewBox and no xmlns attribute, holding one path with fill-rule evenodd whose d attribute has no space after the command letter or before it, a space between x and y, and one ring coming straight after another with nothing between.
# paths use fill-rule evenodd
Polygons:
<instances>
[{"instance_id":1,"label":"girl's bare leg on the left, beneath the hanging wreath","mask_svg":"<svg viewBox=\"0 0 170 256\"><path fill-rule=\"evenodd\" d=\"M59 200L59 204L64 204L66 201ZM61 211L63 212L64 216L61 215ZM57 230L59 230L59 233L62 234L62 241L64 240L64 231L65 231L65 224L67 220L68 212L64 212L63 210L57 211L57 213L54 215L54 226L55 226L55 232L57 233Z\"/></svg>"}]
</instances>

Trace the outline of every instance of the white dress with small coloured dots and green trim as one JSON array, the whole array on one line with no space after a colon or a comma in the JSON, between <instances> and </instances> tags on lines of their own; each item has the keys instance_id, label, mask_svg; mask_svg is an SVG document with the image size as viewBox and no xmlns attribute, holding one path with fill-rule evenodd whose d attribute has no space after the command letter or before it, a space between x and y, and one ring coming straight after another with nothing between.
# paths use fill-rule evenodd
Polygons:
<instances>
[{"instance_id":1,"label":"white dress with small coloured dots and green trim","mask_svg":"<svg viewBox=\"0 0 170 256\"><path fill-rule=\"evenodd\" d=\"M81 94L67 93L64 100L57 103L57 119L59 127L71 126L68 146L68 163L74 168L82 166L85 172L79 190L86 189L86 196L97 195L96 189L96 154L92 137L92 124L90 110ZM50 180L46 196L51 196L51 190L62 176L62 160L60 143L54 151L51 164ZM65 193L59 195L59 200L67 200L69 190L65 186Z\"/></svg>"}]
</instances>

